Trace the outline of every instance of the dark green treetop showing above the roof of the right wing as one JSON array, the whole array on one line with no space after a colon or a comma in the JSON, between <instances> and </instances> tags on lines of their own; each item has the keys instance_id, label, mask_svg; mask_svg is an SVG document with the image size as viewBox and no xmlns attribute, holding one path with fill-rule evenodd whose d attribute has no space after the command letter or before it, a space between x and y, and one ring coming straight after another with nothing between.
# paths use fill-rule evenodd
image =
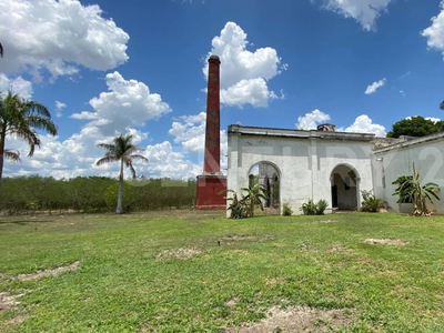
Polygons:
<instances>
[{"instance_id":1,"label":"dark green treetop showing above the roof of the right wing","mask_svg":"<svg viewBox=\"0 0 444 333\"><path fill-rule=\"evenodd\" d=\"M444 121L434 122L420 115L403 119L394 123L392 131L387 133L387 138L400 138L401 135L425 137L443 131Z\"/></svg>"}]
</instances>

